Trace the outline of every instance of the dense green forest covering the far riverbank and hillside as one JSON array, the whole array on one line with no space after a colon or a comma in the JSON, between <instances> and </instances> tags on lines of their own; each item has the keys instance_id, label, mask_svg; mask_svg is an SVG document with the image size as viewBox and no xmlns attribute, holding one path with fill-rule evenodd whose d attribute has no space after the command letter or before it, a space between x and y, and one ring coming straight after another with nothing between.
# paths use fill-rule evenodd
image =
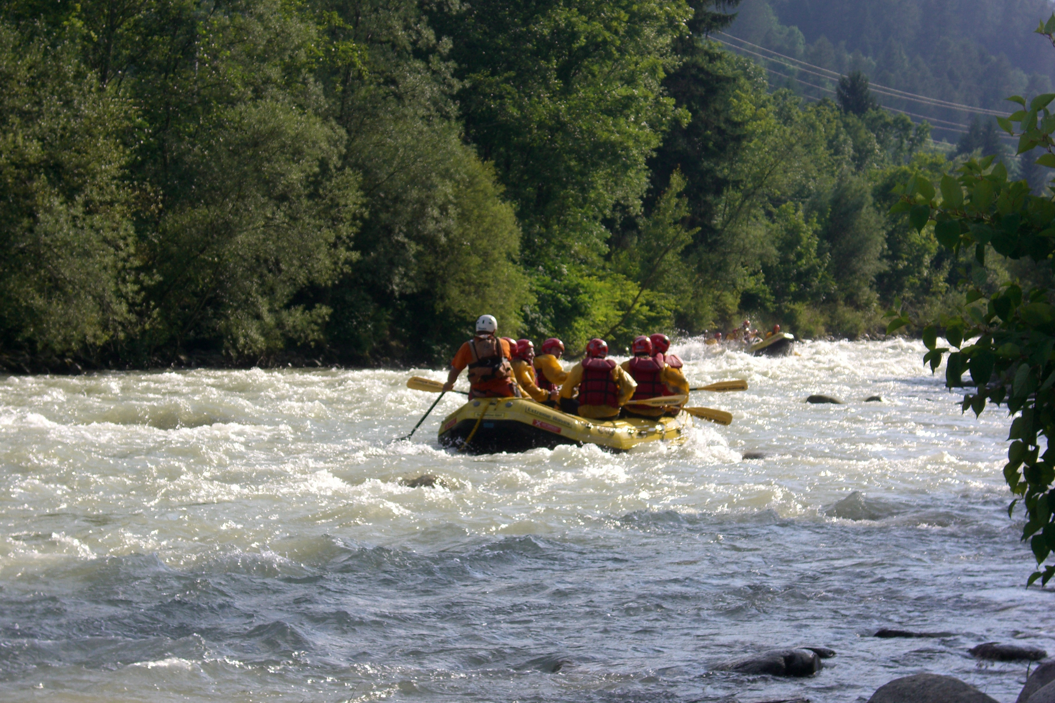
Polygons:
<instances>
[{"instance_id":1,"label":"dense green forest covering the far riverbank and hillside","mask_svg":"<svg viewBox=\"0 0 1055 703\"><path fill-rule=\"evenodd\" d=\"M436 364L483 312L856 337L1006 273L888 210L980 151L1034 178L989 112L1049 89L1046 1L736 5L11 0L0 366Z\"/></svg>"}]
</instances>

